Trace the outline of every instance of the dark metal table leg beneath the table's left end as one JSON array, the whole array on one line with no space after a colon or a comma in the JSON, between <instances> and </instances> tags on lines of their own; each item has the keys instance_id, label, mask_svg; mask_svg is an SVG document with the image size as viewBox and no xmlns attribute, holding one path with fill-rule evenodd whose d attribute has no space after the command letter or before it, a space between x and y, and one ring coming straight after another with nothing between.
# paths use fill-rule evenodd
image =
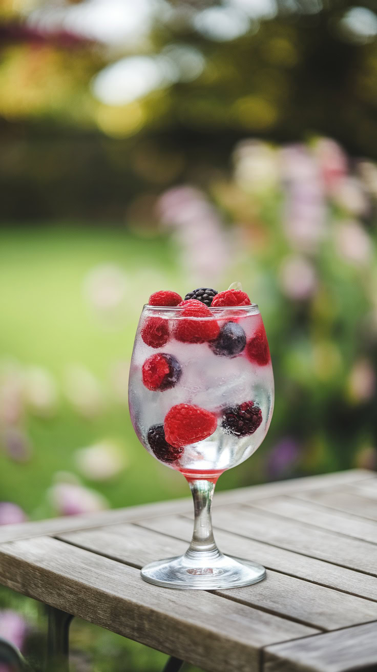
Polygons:
<instances>
[{"instance_id":1,"label":"dark metal table leg beneath the table's left end","mask_svg":"<svg viewBox=\"0 0 377 672\"><path fill-rule=\"evenodd\" d=\"M46 672L69 672L69 626L73 616L47 607Z\"/></svg>"}]
</instances>

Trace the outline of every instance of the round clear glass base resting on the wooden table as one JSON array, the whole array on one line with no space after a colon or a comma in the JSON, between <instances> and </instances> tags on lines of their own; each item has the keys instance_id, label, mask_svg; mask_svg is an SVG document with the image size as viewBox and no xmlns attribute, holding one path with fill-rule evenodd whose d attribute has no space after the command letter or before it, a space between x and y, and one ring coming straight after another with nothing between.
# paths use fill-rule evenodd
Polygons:
<instances>
[{"instance_id":1,"label":"round clear glass base resting on the wooden table","mask_svg":"<svg viewBox=\"0 0 377 672\"><path fill-rule=\"evenodd\" d=\"M198 556L198 557L196 557ZM222 553L190 553L146 564L144 581L167 588L216 590L248 586L265 579L265 568L257 562Z\"/></svg>"}]
</instances>

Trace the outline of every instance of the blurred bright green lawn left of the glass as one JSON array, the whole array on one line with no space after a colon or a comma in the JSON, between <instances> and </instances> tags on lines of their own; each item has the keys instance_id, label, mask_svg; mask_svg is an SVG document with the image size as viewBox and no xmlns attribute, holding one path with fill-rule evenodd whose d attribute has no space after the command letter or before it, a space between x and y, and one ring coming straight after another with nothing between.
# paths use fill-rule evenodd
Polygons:
<instances>
[{"instance_id":1,"label":"blurred bright green lawn left of the glass","mask_svg":"<svg viewBox=\"0 0 377 672\"><path fill-rule=\"evenodd\" d=\"M127 281L129 298L116 325L103 325L83 290L91 269L106 263L124 269ZM18 464L0 454L0 499L19 503L32 517L49 515L46 489L54 473L75 471L73 452L103 437L118 441L127 460L120 476L95 485L113 506L187 493L179 474L142 449L126 402L114 400L110 386L112 366L129 360L142 304L157 286L184 290L165 239L69 226L0 232L0 359L45 367L60 390L53 417L27 413L22 421L33 445L31 460ZM77 414L62 392L65 369L73 363L89 369L108 398L93 419Z\"/></svg>"}]
</instances>

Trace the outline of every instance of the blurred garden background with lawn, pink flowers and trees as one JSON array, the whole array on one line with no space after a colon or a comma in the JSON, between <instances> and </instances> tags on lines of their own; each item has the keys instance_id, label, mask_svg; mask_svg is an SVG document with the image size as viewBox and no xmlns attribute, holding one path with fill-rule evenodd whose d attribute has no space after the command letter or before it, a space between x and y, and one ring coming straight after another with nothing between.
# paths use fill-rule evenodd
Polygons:
<instances>
[{"instance_id":1,"label":"blurred garden background with lawn, pink flowers and trees","mask_svg":"<svg viewBox=\"0 0 377 672\"><path fill-rule=\"evenodd\" d=\"M0 523L187 495L138 444L142 304L237 280L271 428L218 489L377 468L373 0L1 0ZM0 634L38 668L36 603ZM165 657L84 622L77 672Z\"/></svg>"}]
</instances>

